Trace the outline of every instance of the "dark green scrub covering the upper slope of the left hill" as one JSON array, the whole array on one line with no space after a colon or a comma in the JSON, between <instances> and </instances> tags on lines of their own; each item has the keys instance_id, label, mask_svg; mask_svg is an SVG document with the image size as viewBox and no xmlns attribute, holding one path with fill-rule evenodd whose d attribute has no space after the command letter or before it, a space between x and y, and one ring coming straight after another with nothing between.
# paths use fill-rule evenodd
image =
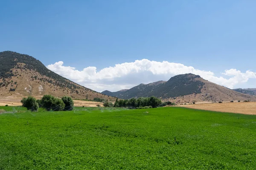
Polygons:
<instances>
[{"instance_id":1,"label":"dark green scrub covering the upper slope of the left hill","mask_svg":"<svg viewBox=\"0 0 256 170\"><path fill-rule=\"evenodd\" d=\"M19 54L12 51L0 52L0 88L10 86L9 91L15 91L17 88L17 82L10 80L14 77L21 77L21 74L26 71L35 73L29 77L29 81L37 80L38 83L44 83L50 85L50 87L58 87L58 91L61 93L81 95L86 99L93 99L93 97L102 96L101 94L93 91L89 88L85 88L78 85L46 68L39 60L26 54ZM37 74L38 73L38 74ZM39 75L39 76L38 76ZM11 85L10 85L11 84ZM54 90L55 91L55 90ZM88 96L88 92L90 93ZM19 93L19 92L18 92ZM91 93L93 95L91 95ZM95 94L95 95L94 95ZM106 98L108 98L106 96Z\"/></svg>"}]
</instances>

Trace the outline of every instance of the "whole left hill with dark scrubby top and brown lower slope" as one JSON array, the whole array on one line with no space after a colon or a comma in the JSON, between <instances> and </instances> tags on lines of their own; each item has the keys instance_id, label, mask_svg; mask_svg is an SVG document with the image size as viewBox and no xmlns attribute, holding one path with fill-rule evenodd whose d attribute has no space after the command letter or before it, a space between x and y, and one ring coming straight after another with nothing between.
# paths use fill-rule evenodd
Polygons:
<instances>
[{"instance_id":1,"label":"whole left hill with dark scrubby top and brown lower slope","mask_svg":"<svg viewBox=\"0 0 256 170\"><path fill-rule=\"evenodd\" d=\"M23 97L72 96L74 99L95 97L115 100L50 71L39 60L12 51L0 52L0 96Z\"/></svg>"}]
</instances>

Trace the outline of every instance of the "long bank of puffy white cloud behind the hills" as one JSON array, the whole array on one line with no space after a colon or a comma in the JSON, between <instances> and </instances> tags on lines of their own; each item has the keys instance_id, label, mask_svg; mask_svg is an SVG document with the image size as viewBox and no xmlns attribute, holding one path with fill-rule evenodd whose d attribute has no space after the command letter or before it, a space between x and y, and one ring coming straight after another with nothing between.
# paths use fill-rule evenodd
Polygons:
<instances>
[{"instance_id":1,"label":"long bank of puffy white cloud behind the hills","mask_svg":"<svg viewBox=\"0 0 256 170\"><path fill-rule=\"evenodd\" d=\"M62 61L48 65L47 68L96 91L118 91L134 87L140 83L168 80L172 76L186 73L200 75L210 82L228 88L247 82L248 79L256 78L256 73L253 71L242 73L236 69L225 70L222 74L229 78L224 78L215 76L211 71L201 71L192 66L167 61L150 61L148 59L116 64L114 67L103 68L100 71L97 71L96 67L87 67L79 71L74 67L64 66Z\"/></svg>"}]
</instances>

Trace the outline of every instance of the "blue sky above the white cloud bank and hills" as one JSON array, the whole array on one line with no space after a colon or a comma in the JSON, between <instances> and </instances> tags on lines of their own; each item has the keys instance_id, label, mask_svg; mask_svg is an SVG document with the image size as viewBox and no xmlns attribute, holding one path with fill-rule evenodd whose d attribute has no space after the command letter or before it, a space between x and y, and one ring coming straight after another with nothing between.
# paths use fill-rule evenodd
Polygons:
<instances>
[{"instance_id":1,"label":"blue sky above the white cloud bank and hills","mask_svg":"<svg viewBox=\"0 0 256 170\"><path fill-rule=\"evenodd\" d=\"M255 0L1 1L0 51L29 54L44 65L62 61L79 71L168 61L229 79L221 73L256 72L255 6ZM239 81L232 87L256 87L255 79Z\"/></svg>"}]
</instances>

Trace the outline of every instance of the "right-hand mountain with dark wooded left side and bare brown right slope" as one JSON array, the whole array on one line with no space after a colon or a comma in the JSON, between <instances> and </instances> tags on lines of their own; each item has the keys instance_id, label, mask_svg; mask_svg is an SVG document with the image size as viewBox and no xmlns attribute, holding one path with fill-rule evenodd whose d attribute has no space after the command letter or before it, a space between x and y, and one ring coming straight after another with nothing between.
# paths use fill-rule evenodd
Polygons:
<instances>
[{"instance_id":1,"label":"right-hand mountain with dark wooded left side and bare brown right slope","mask_svg":"<svg viewBox=\"0 0 256 170\"><path fill-rule=\"evenodd\" d=\"M106 94L105 92L102 93ZM181 74L172 77L167 82L159 81L146 85L140 84L126 91L108 91L107 94L120 99L156 96L162 100L169 100L176 103L256 100L255 96L233 91L209 82L195 74Z\"/></svg>"}]
</instances>

